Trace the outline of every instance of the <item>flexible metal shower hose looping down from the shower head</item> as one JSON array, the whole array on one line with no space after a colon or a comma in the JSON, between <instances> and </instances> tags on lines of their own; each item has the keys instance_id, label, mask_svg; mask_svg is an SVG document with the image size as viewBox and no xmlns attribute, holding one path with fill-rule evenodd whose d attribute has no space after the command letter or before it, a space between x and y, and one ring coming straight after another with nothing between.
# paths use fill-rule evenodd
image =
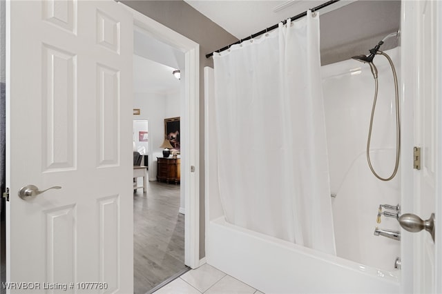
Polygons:
<instances>
[{"instance_id":1,"label":"flexible metal shower hose looping down from the shower head","mask_svg":"<svg viewBox=\"0 0 442 294\"><path fill-rule=\"evenodd\" d=\"M383 55L385 58L387 58L388 62L390 62L390 66L392 67L393 71L393 77L394 77L394 94L396 95L396 163L394 164L394 170L392 175L390 177L384 178L379 176L376 171L374 171L374 168L372 166L372 161L370 159L370 141L372 139L372 128L373 128L373 117L374 117L374 110L376 109L376 100L378 98L378 78L374 78L374 100L373 100L373 108L372 108L372 117L370 117L370 126L368 130L368 139L367 139L367 161L368 166L370 170L372 170L373 175L377 177L378 179L381 179L382 181L390 181L394 178L396 173L398 172L398 166L399 166L399 155L401 153L401 121L399 119L399 95L398 95L398 79L396 76L396 70L394 68L394 64L390 56L385 54L384 52L378 51L376 54Z\"/></svg>"}]
</instances>

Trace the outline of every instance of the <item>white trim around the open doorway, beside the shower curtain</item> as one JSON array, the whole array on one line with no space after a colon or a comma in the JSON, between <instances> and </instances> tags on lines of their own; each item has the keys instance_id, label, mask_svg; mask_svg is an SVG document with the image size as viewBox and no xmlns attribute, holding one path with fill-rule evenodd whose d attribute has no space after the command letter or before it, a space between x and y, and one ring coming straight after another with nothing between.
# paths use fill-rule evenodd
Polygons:
<instances>
[{"instance_id":1,"label":"white trim around the open doorway, beside the shower curtain","mask_svg":"<svg viewBox=\"0 0 442 294\"><path fill-rule=\"evenodd\" d=\"M133 14L134 28L184 52L185 95L181 128L189 137L182 138L182 177L185 199L184 263L200 265L200 45L191 39L120 3ZM184 133L184 132L183 132ZM191 171L192 166L194 172Z\"/></svg>"}]
</instances>

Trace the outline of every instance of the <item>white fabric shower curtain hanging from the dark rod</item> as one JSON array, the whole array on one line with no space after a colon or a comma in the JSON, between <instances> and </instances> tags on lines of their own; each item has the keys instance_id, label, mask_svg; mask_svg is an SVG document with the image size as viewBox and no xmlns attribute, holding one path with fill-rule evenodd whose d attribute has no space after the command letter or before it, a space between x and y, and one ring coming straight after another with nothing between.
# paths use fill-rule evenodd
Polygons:
<instances>
[{"instance_id":1,"label":"white fabric shower curtain hanging from the dark rod","mask_svg":"<svg viewBox=\"0 0 442 294\"><path fill-rule=\"evenodd\" d=\"M319 17L213 55L227 222L336 254Z\"/></svg>"}]
</instances>

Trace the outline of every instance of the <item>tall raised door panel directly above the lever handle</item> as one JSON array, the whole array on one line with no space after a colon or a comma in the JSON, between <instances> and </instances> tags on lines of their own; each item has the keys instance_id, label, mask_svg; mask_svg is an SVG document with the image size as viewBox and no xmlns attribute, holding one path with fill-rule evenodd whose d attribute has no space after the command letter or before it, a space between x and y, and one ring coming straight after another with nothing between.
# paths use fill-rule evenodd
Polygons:
<instances>
[{"instance_id":1,"label":"tall raised door panel directly above the lever handle","mask_svg":"<svg viewBox=\"0 0 442 294\"><path fill-rule=\"evenodd\" d=\"M42 44L41 140L44 171L75 169L77 57Z\"/></svg>"}]
</instances>

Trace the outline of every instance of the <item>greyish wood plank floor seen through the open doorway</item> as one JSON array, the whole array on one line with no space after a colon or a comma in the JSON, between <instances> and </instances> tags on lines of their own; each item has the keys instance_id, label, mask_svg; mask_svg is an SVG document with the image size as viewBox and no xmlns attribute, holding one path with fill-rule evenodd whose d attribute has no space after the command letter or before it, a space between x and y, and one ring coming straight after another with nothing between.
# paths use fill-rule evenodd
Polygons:
<instances>
[{"instance_id":1,"label":"greyish wood plank floor seen through the open doorway","mask_svg":"<svg viewBox=\"0 0 442 294\"><path fill-rule=\"evenodd\" d=\"M133 194L134 292L146 293L184 266L184 215L180 185L148 182Z\"/></svg>"}]
</instances>

